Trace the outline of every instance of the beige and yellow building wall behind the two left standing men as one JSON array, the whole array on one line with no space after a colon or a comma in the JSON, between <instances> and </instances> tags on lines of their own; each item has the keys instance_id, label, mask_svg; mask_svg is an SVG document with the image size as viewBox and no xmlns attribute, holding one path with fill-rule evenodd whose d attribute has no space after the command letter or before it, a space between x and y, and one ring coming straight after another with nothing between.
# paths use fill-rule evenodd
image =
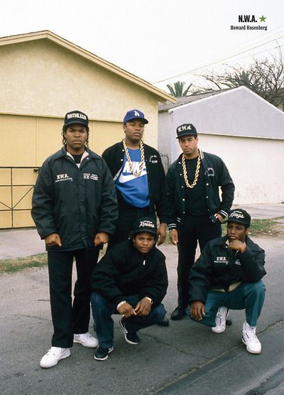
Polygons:
<instances>
[{"instance_id":1,"label":"beige and yellow building wall behind the two left standing men","mask_svg":"<svg viewBox=\"0 0 284 395\"><path fill-rule=\"evenodd\" d=\"M149 121L143 141L157 147L158 97L149 90L49 39L0 45L0 228L33 226L34 168L62 146L66 112L88 115L89 148L102 154L121 141L133 108Z\"/></svg>"}]
</instances>

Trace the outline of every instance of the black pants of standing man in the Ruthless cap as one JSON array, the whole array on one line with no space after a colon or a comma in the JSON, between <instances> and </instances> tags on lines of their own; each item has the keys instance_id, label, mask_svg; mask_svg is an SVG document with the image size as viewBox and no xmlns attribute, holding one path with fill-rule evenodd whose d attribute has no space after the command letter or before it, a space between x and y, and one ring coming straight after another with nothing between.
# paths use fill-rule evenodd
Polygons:
<instances>
[{"instance_id":1,"label":"black pants of standing man in the Ruthless cap","mask_svg":"<svg viewBox=\"0 0 284 395\"><path fill-rule=\"evenodd\" d=\"M72 347L74 333L89 329L90 277L99 256L98 249L48 251L50 307L54 347ZM72 303L72 266L76 261L77 281Z\"/></svg>"}]
</instances>

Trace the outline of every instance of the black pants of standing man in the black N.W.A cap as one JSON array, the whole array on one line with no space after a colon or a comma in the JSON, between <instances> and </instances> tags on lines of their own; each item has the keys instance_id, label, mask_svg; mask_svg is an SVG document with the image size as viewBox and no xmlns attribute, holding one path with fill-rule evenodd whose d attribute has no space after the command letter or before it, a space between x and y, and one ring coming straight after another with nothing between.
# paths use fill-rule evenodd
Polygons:
<instances>
[{"instance_id":1,"label":"black pants of standing man in the black N.W.A cap","mask_svg":"<svg viewBox=\"0 0 284 395\"><path fill-rule=\"evenodd\" d=\"M209 217L185 215L182 226L178 227L178 305L187 308L188 305L188 275L195 263L197 242L200 251L212 239L221 237L221 223L213 224Z\"/></svg>"}]
</instances>

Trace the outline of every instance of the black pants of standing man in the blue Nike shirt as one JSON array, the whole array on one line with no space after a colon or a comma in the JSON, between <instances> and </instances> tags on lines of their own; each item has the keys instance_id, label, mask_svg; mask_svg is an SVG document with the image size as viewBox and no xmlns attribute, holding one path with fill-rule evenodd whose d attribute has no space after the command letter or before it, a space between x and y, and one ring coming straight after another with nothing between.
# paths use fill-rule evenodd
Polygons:
<instances>
[{"instance_id":1,"label":"black pants of standing man in the blue Nike shirt","mask_svg":"<svg viewBox=\"0 0 284 395\"><path fill-rule=\"evenodd\" d=\"M117 220L116 230L109 240L108 249L127 240L133 229L133 223L143 216L155 218L155 211L151 210L151 206L139 208L125 202L119 202L119 219Z\"/></svg>"}]
</instances>

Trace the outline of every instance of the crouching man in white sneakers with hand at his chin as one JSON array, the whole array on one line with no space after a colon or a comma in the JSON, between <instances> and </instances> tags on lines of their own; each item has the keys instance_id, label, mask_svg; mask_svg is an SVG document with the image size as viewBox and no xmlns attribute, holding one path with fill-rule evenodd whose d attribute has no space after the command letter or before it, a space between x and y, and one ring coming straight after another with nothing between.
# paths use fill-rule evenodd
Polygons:
<instances>
[{"instance_id":1,"label":"crouching man in white sneakers with hand at his chin","mask_svg":"<svg viewBox=\"0 0 284 395\"><path fill-rule=\"evenodd\" d=\"M259 354L256 323L264 302L261 278L266 270L263 249L247 235L250 224L245 210L233 210L226 236L207 243L190 271L190 315L212 332L221 333L226 329L228 309L245 309L242 341L246 350Z\"/></svg>"}]
</instances>

